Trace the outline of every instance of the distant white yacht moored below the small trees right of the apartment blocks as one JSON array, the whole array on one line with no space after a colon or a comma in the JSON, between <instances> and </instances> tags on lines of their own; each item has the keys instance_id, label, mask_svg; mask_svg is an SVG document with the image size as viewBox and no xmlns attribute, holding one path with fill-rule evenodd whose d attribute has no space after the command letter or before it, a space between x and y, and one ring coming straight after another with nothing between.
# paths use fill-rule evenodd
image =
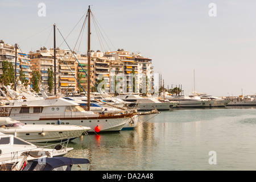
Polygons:
<instances>
[{"instance_id":1,"label":"distant white yacht moored below the small trees right of the apartment blocks","mask_svg":"<svg viewBox=\"0 0 256 182\"><path fill-rule=\"evenodd\" d=\"M163 97L163 96L162 96ZM189 96L164 96L169 101L177 101L177 107L205 107L210 101L201 98L192 98Z\"/></svg>"}]
</instances>

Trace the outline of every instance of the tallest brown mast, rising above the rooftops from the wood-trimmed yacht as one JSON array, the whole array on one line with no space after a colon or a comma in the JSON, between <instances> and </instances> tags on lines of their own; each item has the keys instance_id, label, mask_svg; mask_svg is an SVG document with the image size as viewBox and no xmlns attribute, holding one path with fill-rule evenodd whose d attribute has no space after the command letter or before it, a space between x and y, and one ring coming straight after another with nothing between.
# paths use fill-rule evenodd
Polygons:
<instances>
[{"instance_id":1,"label":"tallest brown mast, rising above the rooftops from the wood-trimmed yacht","mask_svg":"<svg viewBox=\"0 0 256 182\"><path fill-rule=\"evenodd\" d=\"M90 6L88 9L88 84L87 84L87 105L88 110L90 110Z\"/></svg>"}]
</instances>

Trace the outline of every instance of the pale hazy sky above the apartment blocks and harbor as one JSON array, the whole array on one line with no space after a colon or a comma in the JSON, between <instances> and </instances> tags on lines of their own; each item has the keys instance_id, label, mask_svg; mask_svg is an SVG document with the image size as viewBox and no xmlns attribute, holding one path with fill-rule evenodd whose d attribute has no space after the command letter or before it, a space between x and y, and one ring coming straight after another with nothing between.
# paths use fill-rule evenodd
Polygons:
<instances>
[{"instance_id":1,"label":"pale hazy sky above the apartment blocks and harbor","mask_svg":"<svg viewBox=\"0 0 256 182\"><path fill-rule=\"evenodd\" d=\"M79 40L75 51L86 53L86 30L81 39L79 34L89 5L108 43L99 43L92 24L91 49L140 52L152 59L166 88L182 85L185 95L194 85L196 92L213 96L256 94L253 0L0 0L0 39L18 43L24 53L52 48L56 23L56 46L68 49L61 33L71 49Z\"/></svg>"}]
</instances>

